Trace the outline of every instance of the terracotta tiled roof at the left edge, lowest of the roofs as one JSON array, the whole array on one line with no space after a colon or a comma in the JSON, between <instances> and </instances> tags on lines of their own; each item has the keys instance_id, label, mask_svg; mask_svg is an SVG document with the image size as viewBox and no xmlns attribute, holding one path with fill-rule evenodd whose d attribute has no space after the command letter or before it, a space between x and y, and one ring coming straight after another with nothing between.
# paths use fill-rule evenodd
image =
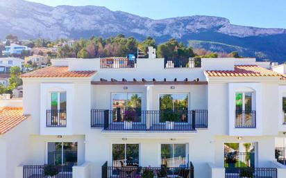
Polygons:
<instances>
[{"instance_id":1,"label":"terracotta tiled roof at the left edge, lowest of the roofs","mask_svg":"<svg viewBox=\"0 0 286 178\"><path fill-rule=\"evenodd\" d=\"M22 107L3 107L0 110L0 134L12 130L26 118L28 116L23 115Z\"/></svg>"}]
</instances>

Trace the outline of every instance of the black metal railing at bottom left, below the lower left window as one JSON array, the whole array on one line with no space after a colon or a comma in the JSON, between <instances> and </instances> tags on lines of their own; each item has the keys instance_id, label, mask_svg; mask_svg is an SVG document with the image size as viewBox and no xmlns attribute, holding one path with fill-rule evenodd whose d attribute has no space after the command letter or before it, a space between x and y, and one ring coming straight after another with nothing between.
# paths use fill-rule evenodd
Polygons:
<instances>
[{"instance_id":1,"label":"black metal railing at bottom left, below the lower left window","mask_svg":"<svg viewBox=\"0 0 286 178\"><path fill-rule=\"evenodd\" d=\"M53 166L58 170L56 178L72 178L72 167L70 166ZM23 166L23 178L47 178L45 175L47 166Z\"/></svg>"}]
</instances>

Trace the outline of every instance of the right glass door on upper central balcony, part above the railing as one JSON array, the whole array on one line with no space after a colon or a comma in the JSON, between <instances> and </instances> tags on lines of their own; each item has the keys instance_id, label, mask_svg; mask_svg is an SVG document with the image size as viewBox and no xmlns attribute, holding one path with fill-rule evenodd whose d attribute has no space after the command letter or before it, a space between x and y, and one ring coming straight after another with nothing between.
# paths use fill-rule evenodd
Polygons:
<instances>
[{"instance_id":1,"label":"right glass door on upper central balcony, part above the railing","mask_svg":"<svg viewBox=\"0 0 286 178\"><path fill-rule=\"evenodd\" d=\"M189 104L188 94L162 94L160 95L160 110L187 110Z\"/></svg>"}]
</instances>

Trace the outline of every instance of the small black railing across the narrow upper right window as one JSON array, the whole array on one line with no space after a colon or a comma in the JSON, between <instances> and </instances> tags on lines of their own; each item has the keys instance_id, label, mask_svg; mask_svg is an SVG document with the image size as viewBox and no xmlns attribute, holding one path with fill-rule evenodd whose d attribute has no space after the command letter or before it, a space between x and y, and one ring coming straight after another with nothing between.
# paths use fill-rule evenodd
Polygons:
<instances>
[{"instance_id":1,"label":"small black railing across the narrow upper right window","mask_svg":"<svg viewBox=\"0 0 286 178\"><path fill-rule=\"evenodd\" d=\"M256 112L255 111L235 111L235 128L255 128Z\"/></svg>"}]
</instances>

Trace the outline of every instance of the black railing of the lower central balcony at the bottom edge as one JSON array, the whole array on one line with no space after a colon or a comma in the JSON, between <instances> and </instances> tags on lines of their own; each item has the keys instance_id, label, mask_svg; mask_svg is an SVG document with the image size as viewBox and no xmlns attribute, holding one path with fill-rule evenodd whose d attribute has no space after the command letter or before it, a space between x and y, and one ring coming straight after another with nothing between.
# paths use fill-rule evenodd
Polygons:
<instances>
[{"instance_id":1,"label":"black railing of the lower central balcony at the bottom edge","mask_svg":"<svg viewBox=\"0 0 286 178\"><path fill-rule=\"evenodd\" d=\"M101 167L101 177L102 178L137 178L146 177L182 177L182 178L194 178L194 166L192 162L189 165L167 168L166 166L161 166L160 168L155 167L141 167L141 166L123 166L115 167L108 166L108 162L103 164Z\"/></svg>"}]
</instances>

